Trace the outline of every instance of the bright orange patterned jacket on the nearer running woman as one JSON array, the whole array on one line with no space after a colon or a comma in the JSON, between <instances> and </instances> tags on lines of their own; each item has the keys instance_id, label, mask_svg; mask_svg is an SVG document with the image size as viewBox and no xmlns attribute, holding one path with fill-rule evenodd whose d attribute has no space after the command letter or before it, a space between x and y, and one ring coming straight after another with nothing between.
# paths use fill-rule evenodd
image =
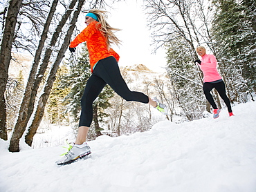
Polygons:
<instances>
[{"instance_id":1,"label":"bright orange patterned jacket on the nearer running woman","mask_svg":"<svg viewBox=\"0 0 256 192\"><path fill-rule=\"evenodd\" d=\"M77 37L71 42L71 48L75 48L78 44L86 41L87 49L89 52L91 72L93 66L100 61L100 59L113 56L116 61L119 61L119 55L112 49L107 48L107 38L100 32L99 26L96 26L98 21L91 22Z\"/></svg>"}]
</instances>

